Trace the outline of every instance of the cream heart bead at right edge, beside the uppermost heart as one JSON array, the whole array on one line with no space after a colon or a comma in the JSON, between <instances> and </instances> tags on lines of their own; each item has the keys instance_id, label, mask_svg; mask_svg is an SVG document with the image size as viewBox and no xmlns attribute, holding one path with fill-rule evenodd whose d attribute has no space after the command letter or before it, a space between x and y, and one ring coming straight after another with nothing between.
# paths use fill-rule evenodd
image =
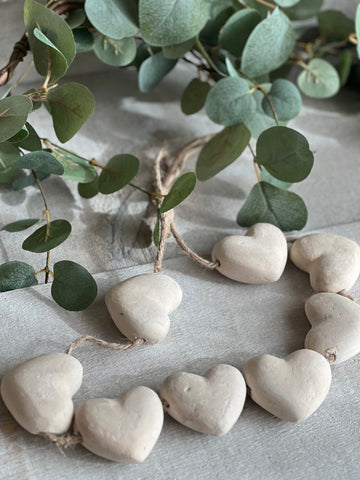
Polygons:
<instances>
[{"instance_id":1,"label":"cream heart bead at right edge, beside the uppermost heart","mask_svg":"<svg viewBox=\"0 0 360 480\"><path fill-rule=\"evenodd\" d=\"M360 247L348 238L331 233L313 233L297 239L290 258L310 274L315 292L350 289L360 273Z\"/></svg>"}]
</instances>

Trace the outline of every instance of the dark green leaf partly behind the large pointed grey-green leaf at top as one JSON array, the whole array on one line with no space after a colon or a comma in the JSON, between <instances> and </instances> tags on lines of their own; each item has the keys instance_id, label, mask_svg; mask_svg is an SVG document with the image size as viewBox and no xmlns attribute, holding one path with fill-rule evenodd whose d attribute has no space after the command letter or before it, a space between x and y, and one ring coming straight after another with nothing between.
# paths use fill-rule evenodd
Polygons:
<instances>
[{"instance_id":1,"label":"dark green leaf partly behind the large pointed grey-green leaf at top","mask_svg":"<svg viewBox=\"0 0 360 480\"><path fill-rule=\"evenodd\" d=\"M225 23L219 44L235 57L240 57L250 33L261 21L256 10L245 8L234 13Z\"/></svg>"}]
</instances>

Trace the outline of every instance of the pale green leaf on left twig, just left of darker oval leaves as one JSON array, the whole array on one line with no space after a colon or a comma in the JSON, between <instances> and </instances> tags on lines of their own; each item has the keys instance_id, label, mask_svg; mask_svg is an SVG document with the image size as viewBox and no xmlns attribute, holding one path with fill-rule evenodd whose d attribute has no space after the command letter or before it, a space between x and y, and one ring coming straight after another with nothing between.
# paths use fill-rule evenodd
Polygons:
<instances>
[{"instance_id":1,"label":"pale green leaf on left twig, just left of darker oval leaves","mask_svg":"<svg viewBox=\"0 0 360 480\"><path fill-rule=\"evenodd\" d=\"M52 154L64 168L64 178L79 183L89 183L97 177L96 168L76 153L57 148Z\"/></svg>"}]
</instances>

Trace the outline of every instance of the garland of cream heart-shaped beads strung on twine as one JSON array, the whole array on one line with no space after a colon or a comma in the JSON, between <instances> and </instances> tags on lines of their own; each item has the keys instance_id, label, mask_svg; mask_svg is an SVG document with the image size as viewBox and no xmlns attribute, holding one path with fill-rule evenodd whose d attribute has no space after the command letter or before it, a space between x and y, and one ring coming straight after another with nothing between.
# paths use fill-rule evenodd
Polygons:
<instances>
[{"instance_id":1,"label":"garland of cream heart-shaped beads strung on twine","mask_svg":"<svg viewBox=\"0 0 360 480\"><path fill-rule=\"evenodd\" d=\"M244 237L230 236L212 252L223 275L244 283L278 280L287 260L287 240L270 224L256 224ZM82 366L70 354L84 342L114 350L154 344L166 336L169 314L180 304L180 286L163 274L145 274L116 285L105 297L109 313L128 344L85 336L67 354L41 355L17 365L1 382L1 396L18 423L30 433L59 446L81 443L101 457L140 463L161 433L163 409L184 426L210 435L224 435L238 420L246 398L289 422L305 420L325 400L331 385L331 363L360 352L360 306L346 298L346 289L360 273L360 247L332 234L296 239L290 258L310 275L317 293L305 304L312 327L305 349L284 359L261 355L242 373L216 365L203 376L178 372L165 379L159 396L136 387L116 399L90 399L75 411L72 396L82 381ZM251 260L253 259L253 260ZM255 260L254 260L255 259ZM67 432L74 419L73 434Z\"/></svg>"}]
</instances>

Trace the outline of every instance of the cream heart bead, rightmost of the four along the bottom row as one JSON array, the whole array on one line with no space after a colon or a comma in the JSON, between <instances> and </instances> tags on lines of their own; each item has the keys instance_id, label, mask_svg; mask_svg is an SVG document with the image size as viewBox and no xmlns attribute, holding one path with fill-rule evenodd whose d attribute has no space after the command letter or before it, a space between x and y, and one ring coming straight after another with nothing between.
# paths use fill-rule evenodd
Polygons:
<instances>
[{"instance_id":1,"label":"cream heart bead, rightmost of the four along the bottom row","mask_svg":"<svg viewBox=\"0 0 360 480\"><path fill-rule=\"evenodd\" d=\"M331 369L313 350L297 350L282 359L261 355L243 368L251 398L262 408L287 422L310 417L328 394Z\"/></svg>"}]
</instances>

